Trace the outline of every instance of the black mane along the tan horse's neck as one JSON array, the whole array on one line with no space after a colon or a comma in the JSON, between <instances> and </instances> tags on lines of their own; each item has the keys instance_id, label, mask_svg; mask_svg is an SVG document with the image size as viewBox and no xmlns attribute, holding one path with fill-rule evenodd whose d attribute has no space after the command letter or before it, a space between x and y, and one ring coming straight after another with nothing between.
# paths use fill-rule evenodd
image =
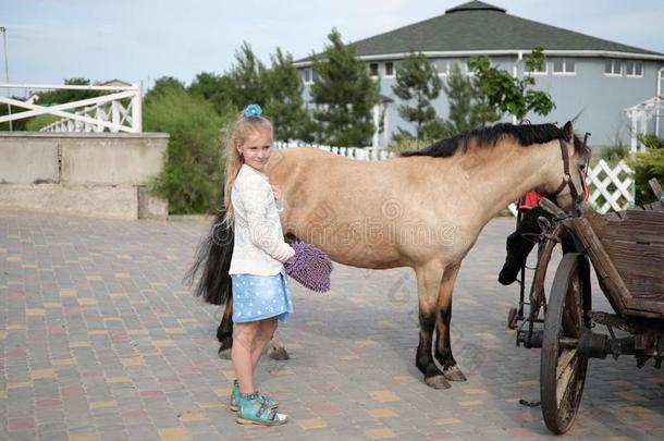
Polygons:
<instances>
[{"instance_id":1,"label":"black mane along the tan horse's neck","mask_svg":"<svg viewBox=\"0 0 664 441\"><path fill-rule=\"evenodd\" d=\"M477 146L494 146L506 135L512 136L520 146L527 147L532 144L544 144L555 139L564 139L563 128L555 124L508 124L500 123L492 126L474 128L462 132L451 138L441 139L420 150L404 151L401 157L431 156L448 158L462 148L463 152L468 150L468 144L475 140ZM576 151L582 150L582 142L575 135L574 147Z\"/></svg>"}]
</instances>

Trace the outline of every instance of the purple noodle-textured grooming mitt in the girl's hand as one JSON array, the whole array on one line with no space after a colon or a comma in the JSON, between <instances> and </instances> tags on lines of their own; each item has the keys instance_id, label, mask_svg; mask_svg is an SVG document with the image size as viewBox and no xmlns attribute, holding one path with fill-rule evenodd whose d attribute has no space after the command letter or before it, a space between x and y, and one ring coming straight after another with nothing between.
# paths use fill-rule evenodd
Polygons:
<instances>
[{"instance_id":1,"label":"purple noodle-textured grooming mitt in the girl's hand","mask_svg":"<svg viewBox=\"0 0 664 441\"><path fill-rule=\"evenodd\" d=\"M284 264L288 275L311 291L330 291L332 261L328 255L304 242L293 244L293 249L295 256Z\"/></svg>"}]
</instances>

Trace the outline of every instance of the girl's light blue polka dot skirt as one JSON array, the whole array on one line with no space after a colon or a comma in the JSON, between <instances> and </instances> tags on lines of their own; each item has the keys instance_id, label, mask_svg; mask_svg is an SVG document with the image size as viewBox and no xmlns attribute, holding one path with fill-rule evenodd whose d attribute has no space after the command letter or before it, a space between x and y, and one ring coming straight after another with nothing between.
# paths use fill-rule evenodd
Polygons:
<instances>
[{"instance_id":1,"label":"girl's light blue polka dot skirt","mask_svg":"<svg viewBox=\"0 0 664 441\"><path fill-rule=\"evenodd\" d=\"M233 322L244 323L276 317L287 323L293 314L286 270L274 275L231 274Z\"/></svg>"}]
</instances>

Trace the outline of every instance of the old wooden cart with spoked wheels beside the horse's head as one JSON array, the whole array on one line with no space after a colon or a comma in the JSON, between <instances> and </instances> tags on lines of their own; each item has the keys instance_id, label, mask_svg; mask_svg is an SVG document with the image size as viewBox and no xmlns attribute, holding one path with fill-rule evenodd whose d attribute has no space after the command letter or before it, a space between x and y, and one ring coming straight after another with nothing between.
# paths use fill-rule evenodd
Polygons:
<instances>
[{"instance_id":1,"label":"old wooden cart with spoked wheels beside the horse's head","mask_svg":"<svg viewBox=\"0 0 664 441\"><path fill-rule=\"evenodd\" d=\"M608 215L565 215L548 200L545 231L517 344L541 347L540 394L546 427L566 432L577 415L590 358L635 355L637 366L664 357L664 201ZM549 296L546 268L569 234L579 253L563 256ZM590 268L613 311L591 308ZM528 304L527 303L527 304ZM598 324L608 333L593 332ZM616 335L616 330L618 334Z\"/></svg>"}]
</instances>

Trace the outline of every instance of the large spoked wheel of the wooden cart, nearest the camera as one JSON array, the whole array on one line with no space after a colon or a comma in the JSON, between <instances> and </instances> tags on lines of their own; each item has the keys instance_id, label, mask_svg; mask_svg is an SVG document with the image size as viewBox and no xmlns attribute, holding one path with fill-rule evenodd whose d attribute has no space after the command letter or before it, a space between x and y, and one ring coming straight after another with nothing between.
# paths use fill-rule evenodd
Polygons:
<instances>
[{"instance_id":1,"label":"large spoked wheel of the wooden cart, nearest the camera","mask_svg":"<svg viewBox=\"0 0 664 441\"><path fill-rule=\"evenodd\" d=\"M577 253L568 253L555 272L544 317L540 360L542 414L549 430L565 433L579 409L588 359L577 352L583 324L583 280Z\"/></svg>"}]
</instances>

